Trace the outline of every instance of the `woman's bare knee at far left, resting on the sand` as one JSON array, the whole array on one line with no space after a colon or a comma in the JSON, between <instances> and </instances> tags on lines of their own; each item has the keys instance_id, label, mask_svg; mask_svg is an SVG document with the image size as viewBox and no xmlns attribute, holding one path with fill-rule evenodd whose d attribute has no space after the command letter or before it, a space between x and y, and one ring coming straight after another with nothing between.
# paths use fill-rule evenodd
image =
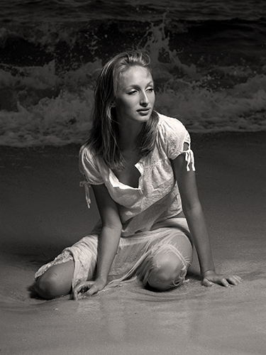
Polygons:
<instances>
[{"instance_id":1,"label":"woman's bare knee at far left, resting on the sand","mask_svg":"<svg viewBox=\"0 0 266 355\"><path fill-rule=\"evenodd\" d=\"M35 292L45 300L70 293L74 263L69 261L49 268L35 283Z\"/></svg>"}]
</instances>

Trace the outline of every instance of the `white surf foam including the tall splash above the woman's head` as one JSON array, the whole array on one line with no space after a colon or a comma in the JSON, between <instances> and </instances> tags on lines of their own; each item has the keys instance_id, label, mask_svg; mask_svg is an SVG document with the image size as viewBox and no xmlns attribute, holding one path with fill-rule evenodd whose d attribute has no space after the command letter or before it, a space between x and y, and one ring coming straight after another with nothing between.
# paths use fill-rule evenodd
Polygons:
<instances>
[{"instance_id":1,"label":"white surf foam including the tall splash above the woman's head","mask_svg":"<svg viewBox=\"0 0 266 355\"><path fill-rule=\"evenodd\" d=\"M259 75L237 65L204 70L185 65L170 50L168 36L162 21L143 37L153 62L157 111L176 117L195 133L266 130L265 72ZM160 61L162 53L167 62ZM0 111L1 145L57 146L87 139L101 60L61 72L55 61L43 67L1 67L0 87L9 90L11 100ZM219 76L229 84L221 84ZM212 80L215 84L208 84Z\"/></svg>"}]
</instances>

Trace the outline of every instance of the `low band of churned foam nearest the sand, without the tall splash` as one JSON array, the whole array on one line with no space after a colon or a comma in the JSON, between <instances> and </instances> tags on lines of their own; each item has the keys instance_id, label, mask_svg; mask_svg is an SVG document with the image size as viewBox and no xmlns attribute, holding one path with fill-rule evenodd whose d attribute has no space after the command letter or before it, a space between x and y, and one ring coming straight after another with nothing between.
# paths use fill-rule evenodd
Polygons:
<instances>
[{"instance_id":1,"label":"low band of churned foam nearest the sand, without the tall splash","mask_svg":"<svg viewBox=\"0 0 266 355\"><path fill-rule=\"evenodd\" d=\"M84 142L92 124L95 68L99 64L87 63L77 71L67 72L65 77L52 72L52 63L49 68L29 70L31 76L21 80L22 86L26 83L24 90L28 93L24 106L16 102L16 111L0 111L0 144L23 147ZM159 74L162 75L161 70ZM9 80L13 77L6 78ZM191 132L266 129L266 75L255 75L246 82L219 89L208 87L208 80L169 78L169 72L163 85L161 77L160 80L157 111L176 117ZM60 81L65 88L52 96L54 85ZM22 93L23 90L18 93L21 98Z\"/></svg>"}]
</instances>

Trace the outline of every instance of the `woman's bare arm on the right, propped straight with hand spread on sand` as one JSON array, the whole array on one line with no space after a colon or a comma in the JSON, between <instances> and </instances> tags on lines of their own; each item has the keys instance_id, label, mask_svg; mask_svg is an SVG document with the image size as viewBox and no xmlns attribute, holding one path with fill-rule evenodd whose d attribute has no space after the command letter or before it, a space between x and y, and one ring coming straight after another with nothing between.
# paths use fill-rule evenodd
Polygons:
<instances>
[{"instance_id":1,"label":"woman's bare arm on the right, propped straight with hand spread on sand","mask_svg":"<svg viewBox=\"0 0 266 355\"><path fill-rule=\"evenodd\" d=\"M199 202L195 173L191 166L189 167L189 171L187 171L185 153L178 155L177 158L171 160L171 162L174 178L177 180L182 199L183 212L187 218L192 242L196 247L196 252L199 257L202 285L211 286L214 283L220 283L226 287L228 287L229 284L238 285L241 282L240 277L236 275L218 275L215 272L209 233L204 212Z\"/></svg>"}]
</instances>

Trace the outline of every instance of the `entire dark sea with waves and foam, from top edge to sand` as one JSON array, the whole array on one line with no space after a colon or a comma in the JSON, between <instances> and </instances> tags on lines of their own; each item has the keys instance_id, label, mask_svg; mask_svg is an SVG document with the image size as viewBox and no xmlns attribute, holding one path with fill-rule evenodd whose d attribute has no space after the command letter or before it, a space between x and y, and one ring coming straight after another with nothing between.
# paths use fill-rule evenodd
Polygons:
<instances>
[{"instance_id":1,"label":"entire dark sea with waves and foam, from top edge to sand","mask_svg":"<svg viewBox=\"0 0 266 355\"><path fill-rule=\"evenodd\" d=\"M266 130L266 2L1 0L0 144L86 141L102 65L153 60L155 109L190 132Z\"/></svg>"}]
</instances>

